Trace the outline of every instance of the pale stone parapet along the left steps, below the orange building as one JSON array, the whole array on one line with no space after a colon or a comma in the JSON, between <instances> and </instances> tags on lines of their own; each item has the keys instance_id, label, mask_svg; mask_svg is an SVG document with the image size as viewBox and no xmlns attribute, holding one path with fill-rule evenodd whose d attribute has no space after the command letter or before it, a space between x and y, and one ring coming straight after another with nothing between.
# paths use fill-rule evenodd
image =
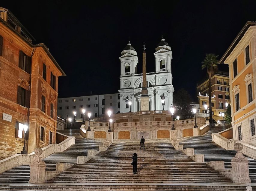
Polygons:
<instances>
[{"instance_id":1,"label":"pale stone parapet along the left steps, below the orange building","mask_svg":"<svg viewBox=\"0 0 256 191\"><path fill-rule=\"evenodd\" d=\"M52 153L61 153L73 144L75 144L75 137L68 137L59 144L49 144L48 146L42 148L43 153L40 155L40 157L45 158ZM16 166L29 165L31 156L33 156L34 154L34 152L28 155L16 154L1 160L0 173Z\"/></svg>"}]
</instances>

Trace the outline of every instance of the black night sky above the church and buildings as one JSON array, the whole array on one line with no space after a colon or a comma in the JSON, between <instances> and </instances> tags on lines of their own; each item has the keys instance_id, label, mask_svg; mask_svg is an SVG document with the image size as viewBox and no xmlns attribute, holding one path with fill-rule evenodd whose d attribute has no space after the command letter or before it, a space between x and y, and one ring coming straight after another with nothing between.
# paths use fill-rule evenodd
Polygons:
<instances>
[{"instance_id":1,"label":"black night sky above the church and buildings","mask_svg":"<svg viewBox=\"0 0 256 191\"><path fill-rule=\"evenodd\" d=\"M138 53L146 42L147 72L163 35L172 50L174 90L196 96L206 77L206 53L219 58L246 21L256 21L256 1L7 1L9 9L49 48L67 77L59 78L59 98L118 93L121 51L128 40ZM219 67L228 71L227 65Z\"/></svg>"}]
</instances>

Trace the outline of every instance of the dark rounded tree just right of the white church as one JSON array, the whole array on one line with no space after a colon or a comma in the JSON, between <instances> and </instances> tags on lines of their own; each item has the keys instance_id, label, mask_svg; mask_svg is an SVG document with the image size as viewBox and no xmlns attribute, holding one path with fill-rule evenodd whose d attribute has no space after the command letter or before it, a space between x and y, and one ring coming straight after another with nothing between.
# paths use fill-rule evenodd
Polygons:
<instances>
[{"instance_id":1,"label":"dark rounded tree just right of the white church","mask_svg":"<svg viewBox=\"0 0 256 191\"><path fill-rule=\"evenodd\" d=\"M174 95L174 107L175 116L180 116L180 119L190 119L194 116L192 113L192 108L189 105L191 102L191 96L185 89L178 90Z\"/></svg>"}]
</instances>

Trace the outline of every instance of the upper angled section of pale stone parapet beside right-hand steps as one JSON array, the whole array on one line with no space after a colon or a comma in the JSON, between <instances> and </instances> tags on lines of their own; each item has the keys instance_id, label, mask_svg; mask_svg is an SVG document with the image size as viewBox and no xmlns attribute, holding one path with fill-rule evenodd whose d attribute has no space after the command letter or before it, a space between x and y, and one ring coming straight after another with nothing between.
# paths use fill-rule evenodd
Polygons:
<instances>
[{"instance_id":1,"label":"upper angled section of pale stone parapet beside right-hand steps","mask_svg":"<svg viewBox=\"0 0 256 191\"><path fill-rule=\"evenodd\" d=\"M221 131L219 133L212 133L213 142L215 142L216 144L218 144L219 146L221 146L225 150L234 150L235 142L223 137L222 135L220 135L221 133L224 133L224 132L229 131L231 129L232 129L232 127L228 128L224 131Z\"/></svg>"}]
</instances>

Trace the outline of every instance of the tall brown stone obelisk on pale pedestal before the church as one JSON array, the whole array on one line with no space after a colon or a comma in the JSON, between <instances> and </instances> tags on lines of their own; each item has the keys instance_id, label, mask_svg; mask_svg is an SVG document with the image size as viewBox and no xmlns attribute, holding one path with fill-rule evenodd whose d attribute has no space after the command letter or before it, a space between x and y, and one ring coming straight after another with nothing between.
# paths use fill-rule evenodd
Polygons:
<instances>
[{"instance_id":1,"label":"tall brown stone obelisk on pale pedestal before the church","mask_svg":"<svg viewBox=\"0 0 256 191\"><path fill-rule=\"evenodd\" d=\"M142 54L142 90L141 90L141 111L149 110L149 96L147 95L147 69L146 69L146 48L143 42Z\"/></svg>"}]
</instances>

